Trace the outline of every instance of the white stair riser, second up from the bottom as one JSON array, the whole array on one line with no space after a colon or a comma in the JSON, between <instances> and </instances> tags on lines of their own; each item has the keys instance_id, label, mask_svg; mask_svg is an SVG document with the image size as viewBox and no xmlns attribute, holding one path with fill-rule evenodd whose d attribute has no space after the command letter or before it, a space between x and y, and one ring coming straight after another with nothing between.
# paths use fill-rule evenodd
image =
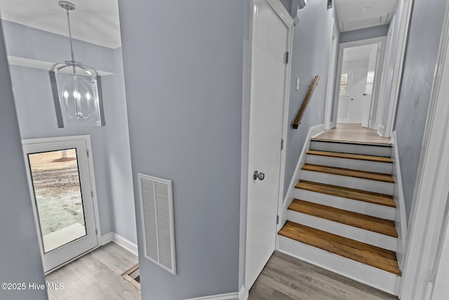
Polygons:
<instances>
[{"instance_id":1,"label":"white stair riser, second up from the bottom","mask_svg":"<svg viewBox=\"0 0 449 300\"><path fill-rule=\"evenodd\" d=\"M351 240L358 242L364 242L375 247L396 251L398 239L396 237L390 237L389 235L382 235L382 233L375 233L370 230L349 226L346 224L329 221L326 219L318 218L316 216L310 216L309 214L302 214L297 211L287 211L288 221L292 221L304 226L316 228L319 230L333 233L334 235L340 235L341 237L347 237Z\"/></svg>"}]
</instances>

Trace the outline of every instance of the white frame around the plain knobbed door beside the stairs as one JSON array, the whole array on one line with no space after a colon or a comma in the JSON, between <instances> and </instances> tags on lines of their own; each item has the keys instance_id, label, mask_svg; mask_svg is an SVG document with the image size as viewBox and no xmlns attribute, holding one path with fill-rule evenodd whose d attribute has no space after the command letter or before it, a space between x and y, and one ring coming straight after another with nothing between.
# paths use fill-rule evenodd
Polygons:
<instances>
[{"instance_id":1,"label":"white frame around the plain knobbed door beside the stairs","mask_svg":"<svg viewBox=\"0 0 449 300\"><path fill-rule=\"evenodd\" d=\"M279 0L265 0L267 1L267 3L272 6L273 10L277 13L277 15L279 15L279 18L285 23L285 25L288 27L288 42L287 42L287 48L288 48L288 52L292 53L292 48L293 48L293 25L294 25L294 21L293 18L291 18L290 14L288 13L288 11L286 11L286 8L284 8L283 4L281 4L281 2ZM253 103L253 93L251 93L251 91L253 90L253 48L254 48L254 43L255 40L253 39L253 32L254 32L254 22L255 22L255 18L254 18L254 6L255 6L255 0L250 0L250 35L249 35L249 91L248 91L248 103L249 103L249 110L248 112L252 111L252 103ZM279 141L279 147L281 148L281 168L280 168L280 178L279 178L279 193L278 193L278 211L277 214L279 215L279 211L281 211L282 209L282 201L283 201L283 185L284 185L284 181L285 181L285 171L286 171L286 143L287 143L287 133L288 133L288 104L289 104L289 100L290 100L290 75L291 75L291 58L288 61L288 63L286 64L286 83L284 86L284 99L283 99L283 129L282 129L282 140L283 140L283 148L281 148L281 141ZM250 114L248 114L250 115ZM248 146L248 148L246 149L247 153L248 153L248 161L246 162L246 170L242 172L242 185L244 185L243 189L246 190L246 204L245 204L245 211L246 211L246 215L244 216L245 220L244 220L244 226L245 226L245 232L244 232L244 244L245 247L243 249L243 256L244 256L244 261L243 261L243 290L245 292L246 295L248 295L248 291L250 289L250 287L248 287L248 274L246 272L247 269L247 248L248 248L248 239L246 238L246 235L248 233L248 202L249 202L249 189L250 189L250 181L248 180L248 178L250 178L250 176L252 176L252 173L249 169L249 163L250 163L250 157L252 156L252 153L250 152L250 132L252 127L255 126L252 124L251 119L248 120L248 127L246 128L246 130L244 130L243 132L243 136L246 136L246 144ZM277 224L276 222L273 223L274 228L277 228ZM275 249L277 249L277 237L276 240L274 241L274 247Z\"/></svg>"}]
</instances>

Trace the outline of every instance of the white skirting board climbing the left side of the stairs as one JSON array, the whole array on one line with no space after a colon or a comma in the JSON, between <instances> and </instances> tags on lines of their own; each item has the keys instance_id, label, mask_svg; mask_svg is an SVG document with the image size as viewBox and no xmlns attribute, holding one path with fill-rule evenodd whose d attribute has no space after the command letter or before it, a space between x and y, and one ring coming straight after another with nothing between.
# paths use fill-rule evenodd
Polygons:
<instances>
[{"instance_id":1,"label":"white skirting board climbing the left side of the stairs","mask_svg":"<svg viewBox=\"0 0 449 300\"><path fill-rule=\"evenodd\" d=\"M278 231L282 228L283 224L287 221L287 207L293 201L293 191L295 190L295 185L297 181L300 180L301 167L306 161L306 153L309 150L310 140L316 136L319 136L324 132L324 124L318 124L316 126L311 126L309 128L309 133L307 133L307 137L304 141L304 146L302 147L302 151L300 154L300 158L297 161L296 169L293 172L292 179L290 181L290 185L288 185L288 190L286 193L286 197L283 200L282 210L279 211L279 225Z\"/></svg>"}]
</instances>

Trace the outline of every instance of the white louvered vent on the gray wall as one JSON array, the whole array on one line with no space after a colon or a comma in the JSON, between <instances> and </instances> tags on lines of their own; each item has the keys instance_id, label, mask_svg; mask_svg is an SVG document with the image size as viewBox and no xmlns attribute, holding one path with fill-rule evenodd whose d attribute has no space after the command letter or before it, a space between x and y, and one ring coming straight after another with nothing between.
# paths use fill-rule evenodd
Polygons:
<instances>
[{"instance_id":1,"label":"white louvered vent on the gray wall","mask_svg":"<svg viewBox=\"0 0 449 300\"><path fill-rule=\"evenodd\" d=\"M172 183L138 174L145 257L176 275Z\"/></svg>"}]
</instances>

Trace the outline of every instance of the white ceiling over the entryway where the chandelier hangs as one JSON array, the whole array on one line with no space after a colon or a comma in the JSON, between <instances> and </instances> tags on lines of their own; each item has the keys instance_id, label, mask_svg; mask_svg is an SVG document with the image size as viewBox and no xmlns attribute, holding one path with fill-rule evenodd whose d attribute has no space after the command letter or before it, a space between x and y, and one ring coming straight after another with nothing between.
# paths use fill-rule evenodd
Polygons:
<instances>
[{"instance_id":1,"label":"white ceiling over the entryway where the chandelier hangs","mask_svg":"<svg viewBox=\"0 0 449 300\"><path fill-rule=\"evenodd\" d=\"M108 48L119 48L120 23L117 0L69 0L72 37ZM1 18L40 30L69 36L67 13L58 0L0 0Z\"/></svg>"}]
</instances>

